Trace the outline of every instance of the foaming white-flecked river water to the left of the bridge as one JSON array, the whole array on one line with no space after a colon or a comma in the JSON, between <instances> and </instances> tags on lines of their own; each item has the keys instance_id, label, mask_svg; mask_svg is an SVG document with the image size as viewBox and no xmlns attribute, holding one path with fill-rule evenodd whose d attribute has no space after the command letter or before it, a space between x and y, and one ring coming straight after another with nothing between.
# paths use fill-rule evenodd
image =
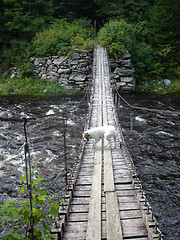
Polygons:
<instances>
[{"instance_id":1,"label":"foaming white-flecked river water to the left of the bridge","mask_svg":"<svg viewBox=\"0 0 180 240\"><path fill-rule=\"evenodd\" d=\"M62 114L67 115L67 159L71 171L78 154L87 102L71 98L1 98L0 117L30 118L28 133L32 168L44 177L49 193L63 195L65 188ZM0 121L0 203L18 196L25 174L24 123Z\"/></svg>"}]
</instances>

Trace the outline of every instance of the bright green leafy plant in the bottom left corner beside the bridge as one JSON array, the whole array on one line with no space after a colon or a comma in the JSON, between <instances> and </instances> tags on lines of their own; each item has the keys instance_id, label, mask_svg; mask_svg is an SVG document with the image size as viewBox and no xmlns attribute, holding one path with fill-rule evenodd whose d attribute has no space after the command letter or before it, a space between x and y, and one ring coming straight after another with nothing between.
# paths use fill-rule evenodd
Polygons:
<instances>
[{"instance_id":1,"label":"bright green leafy plant in the bottom left corner beside the bridge","mask_svg":"<svg viewBox=\"0 0 180 240\"><path fill-rule=\"evenodd\" d=\"M54 196L48 196L46 190L37 187L38 184L43 183L44 179L37 174L33 175L32 212L34 239L50 240L53 239L53 235L50 234L50 227L47 222L52 223L52 216L58 216L59 205L53 202L55 200ZM26 175L21 178L21 183L23 181L26 181ZM21 188L20 194L23 194L25 190L27 190L27 186ZM30 212L28 200L10 200L0 205L0 227L5 228L3 239L32 239L32 231L30 231L32 216Z\"/></svg>"}]
</instances>

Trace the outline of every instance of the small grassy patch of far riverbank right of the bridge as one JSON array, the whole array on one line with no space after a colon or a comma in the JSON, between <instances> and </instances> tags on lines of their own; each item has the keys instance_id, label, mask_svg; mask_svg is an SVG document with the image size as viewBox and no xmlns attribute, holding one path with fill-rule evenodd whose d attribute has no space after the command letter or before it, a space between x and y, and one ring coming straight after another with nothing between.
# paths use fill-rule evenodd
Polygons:
<instances>
[{"instance_id":1,"label":"small grassy patch of far riverbank right of the bridge","mask_svg":"<svg viewBox=\"0 0 180 240\"><path fill-rule=\"evenodd\" d=\"M168 86L164 81L152 80L150 82L137 84L136 90L138 92L150 92L156 94L180 93L180 79L170 80L171 84Z\"/></svg>"}]
</instances>

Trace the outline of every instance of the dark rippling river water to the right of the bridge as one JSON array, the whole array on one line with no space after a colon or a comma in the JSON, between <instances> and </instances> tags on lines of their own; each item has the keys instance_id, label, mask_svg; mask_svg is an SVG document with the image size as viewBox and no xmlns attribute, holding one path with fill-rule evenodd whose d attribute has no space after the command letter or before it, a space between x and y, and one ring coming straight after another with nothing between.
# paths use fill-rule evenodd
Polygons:
<instances>
[{"instance_id":1,"label":"dark rippling river water to the right of the bridge","mask_svg":"<svg viewBox=\"0 0 180 240\"><path fill-rule=\"evenodd\" d=\"M180 96L123 96L134 106L180 111ZM118 104L118 115L125 142L164 239L178 240L180 115L131 110L122 100Z\"/></svg>"}]
</instances>

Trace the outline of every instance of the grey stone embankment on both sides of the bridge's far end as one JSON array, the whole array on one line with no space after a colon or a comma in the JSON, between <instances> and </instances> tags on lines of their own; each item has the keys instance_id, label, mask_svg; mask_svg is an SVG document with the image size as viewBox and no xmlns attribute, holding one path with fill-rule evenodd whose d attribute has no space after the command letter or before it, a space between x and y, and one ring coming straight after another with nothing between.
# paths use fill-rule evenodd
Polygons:
<instances>
[{"instance_id":1,"label":"grey stone embankment on both sides of the bridge's far end","mask_svg":"<svg viewBox=\"0 0 180 240\"><path fill-rule=\"evenodd\" d=\"M59 85L69 88L89 88L92 79L93 52L74 50L72 59L68 56L31 57L36 76L55 80ZM119 60L110 59L111 81L121 91L134 91L135 78L131 55L125 52ZM19 69L14 68L11 78L18 76Z\"/></svg>"}]
</instances>

